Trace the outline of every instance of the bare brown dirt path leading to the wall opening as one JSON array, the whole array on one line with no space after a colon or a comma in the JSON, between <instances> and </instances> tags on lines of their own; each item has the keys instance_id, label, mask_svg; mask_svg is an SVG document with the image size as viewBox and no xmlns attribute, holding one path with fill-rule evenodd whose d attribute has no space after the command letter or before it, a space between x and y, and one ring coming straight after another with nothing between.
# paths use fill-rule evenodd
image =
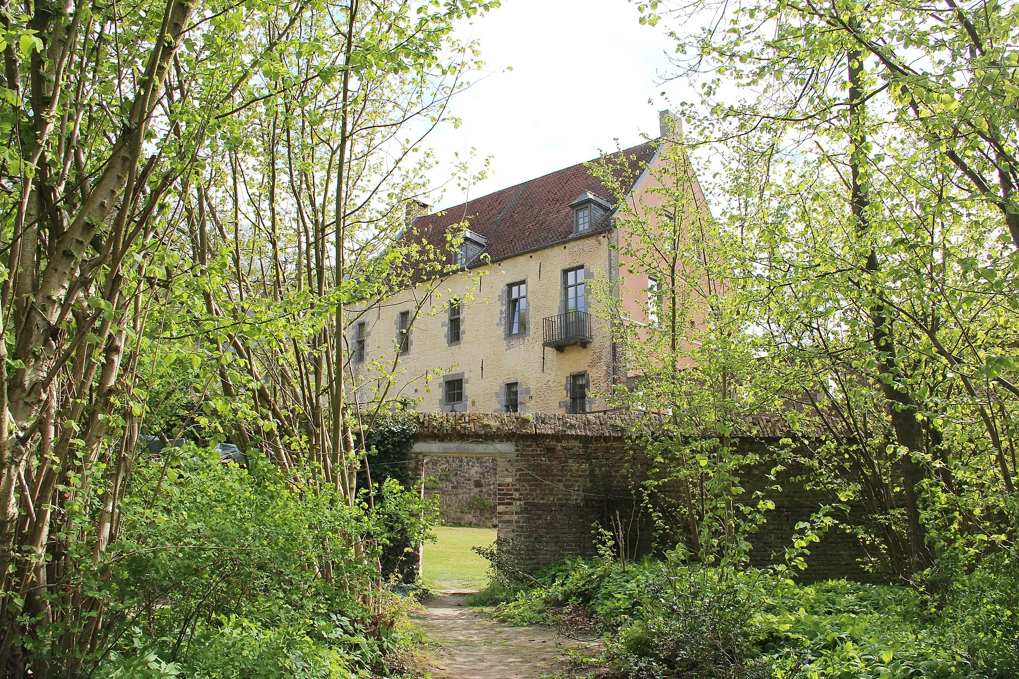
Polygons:
<instances>
[{"instance_id":1,"label":"bare brown dirt path leading to the wall opening","mask_svg":"<svg viewBox=\"0 0 1019 679\"><path fill-rule=\"evenodd\" d=\"M556 637L549 627L503 625L474 613L464 599L435 597L418 616L441 646L432 656L435 679L538 679L564 672L567 663L560 659L590 645Z\"/></svg>"}]
</instances>

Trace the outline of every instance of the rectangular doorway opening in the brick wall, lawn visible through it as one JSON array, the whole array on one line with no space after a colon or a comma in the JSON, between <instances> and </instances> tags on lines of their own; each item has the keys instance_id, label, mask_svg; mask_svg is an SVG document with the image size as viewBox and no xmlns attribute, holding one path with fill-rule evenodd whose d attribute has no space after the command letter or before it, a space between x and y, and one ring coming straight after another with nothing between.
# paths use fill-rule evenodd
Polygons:
<instances>
[{"instance_id":1,"label":"rectangular doorway opening in the brick wall, lawn visible through it","mask_svg":"<svg viewBox=\"0 0 1019 679\"><path fill-rule=\"evenodd\" d=\"M472 548L495 542L499 526L500 470L514 444L484 441L418 442L416 458L424 498L437 500L437 541L419 550L419 573L432 589L475 591L487 584L488 562Z\"/></svg>"}]
</instances>

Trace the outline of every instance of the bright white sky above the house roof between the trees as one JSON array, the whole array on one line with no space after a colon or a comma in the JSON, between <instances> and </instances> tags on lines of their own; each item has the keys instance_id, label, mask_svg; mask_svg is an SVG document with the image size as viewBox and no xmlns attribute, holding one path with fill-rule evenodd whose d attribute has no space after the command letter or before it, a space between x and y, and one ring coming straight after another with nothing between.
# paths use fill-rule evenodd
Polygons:
<instances>
[{"instance_id":1,"label":"bright white sky above the house roof between the trees","mask_svg":"<svg viewBox=\"0 0 1019 679\"><path fill-rule=\"evenodd\" d=\"M638 23L627 0L502 0L502 6L459 32L477 38L487 72L452 104L463 125L436 130L427 146L439 159L472 147L491 156L489 178L470 197L596 157L601 150L657 136L658 114L691 99L683 82L662 83L674 42L659 25ZM509 66L513 70L507 70ZM651 100L651 103L648 102ZM449 166L434 173L447 179ZM464 193L448 184L434 207L457 205Z\"/></svg>"}]
</instances>

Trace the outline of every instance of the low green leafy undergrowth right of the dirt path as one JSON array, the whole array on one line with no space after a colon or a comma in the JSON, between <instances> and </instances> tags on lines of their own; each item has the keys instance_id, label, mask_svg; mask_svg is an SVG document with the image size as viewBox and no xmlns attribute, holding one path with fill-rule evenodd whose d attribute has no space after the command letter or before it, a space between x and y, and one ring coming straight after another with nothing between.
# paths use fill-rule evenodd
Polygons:
<instances>
[{"instance_id":1,"label":"low green leafy undergrowth right of the dirt path","mask_svg":"<svg viewBox=\"0 0 1019 679\"><path fill-rule=\"evenodd\" d=\"M950 590L847 580L810 584L671 559L569 560L535 582L496 582L512 624L557 624L583 607L627 679L907 679L1019 676L1019 576L1004 555Z\"/></svg>"}]
</instances>

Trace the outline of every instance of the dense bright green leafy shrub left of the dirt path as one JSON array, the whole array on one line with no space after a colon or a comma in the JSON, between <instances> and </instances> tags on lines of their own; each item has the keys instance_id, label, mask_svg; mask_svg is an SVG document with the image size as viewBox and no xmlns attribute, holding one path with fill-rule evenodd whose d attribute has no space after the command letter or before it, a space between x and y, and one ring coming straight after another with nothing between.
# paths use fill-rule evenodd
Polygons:
<instances>
[{"instance_id":1,"label":"dense bright green leafy shrub left of the dirt path","mask_svg":"<svg viewBox=\"0 0 1019 679\"><path fill-rule=\"evenodd\" d=\"M83 676L388 672L388 657L405 640L407 604L377 590L375 559L389 539L389 514L423 514L412 506L416 494L390 480L385 497L398 506L383 502L373 512L286 480L257 458L244 469L191 449L165 462L137 462L121 534L95 570L83 571L107 630L94 652L76 652ZM374 540L356 554L352 534ZM372 605L357 592L373 592ZM62 627L43 620L35 629L28 647L36 658L66 656Z\"/></svg>"}]
</instances>

